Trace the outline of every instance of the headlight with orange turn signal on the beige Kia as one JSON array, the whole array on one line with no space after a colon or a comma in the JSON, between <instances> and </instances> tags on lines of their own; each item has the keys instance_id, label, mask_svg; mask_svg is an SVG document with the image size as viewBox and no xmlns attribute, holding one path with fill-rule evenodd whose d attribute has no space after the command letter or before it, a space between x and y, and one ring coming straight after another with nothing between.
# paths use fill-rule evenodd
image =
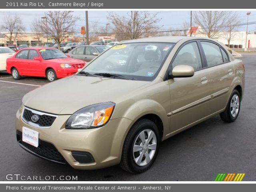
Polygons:
<instances>
[{"instance_id":1,"label":"headlight with orange turn signal on the beige Kia","mask_svg":"<svg viewBox=\"0 0 256 192\"><path fill-rule=\"evenodd\" d=\"M70 116L66 128L90 129L104 126L110 119L114 106L113 102L106 102L84 107Z\"/></svg>"}]
</instances>

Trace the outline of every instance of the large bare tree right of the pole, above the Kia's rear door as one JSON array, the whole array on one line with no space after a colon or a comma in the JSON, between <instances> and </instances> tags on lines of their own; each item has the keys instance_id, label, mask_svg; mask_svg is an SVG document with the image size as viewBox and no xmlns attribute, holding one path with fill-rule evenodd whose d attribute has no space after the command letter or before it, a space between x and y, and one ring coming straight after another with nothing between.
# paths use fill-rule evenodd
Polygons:
<instances>
[{"instance_id":1,"label":"large bare tree right of the pole, above the Kia's rear door","mask_svg":"<svg viewBox=\"0 0 256 192\"><path fill-rule=\"evenodd\" d=\"M232 11L197 11L194 13L194 23L201 26L201 34L208 38L217 38L220 32L236 20L235 12Z\"/></svg>"}]
</instances>

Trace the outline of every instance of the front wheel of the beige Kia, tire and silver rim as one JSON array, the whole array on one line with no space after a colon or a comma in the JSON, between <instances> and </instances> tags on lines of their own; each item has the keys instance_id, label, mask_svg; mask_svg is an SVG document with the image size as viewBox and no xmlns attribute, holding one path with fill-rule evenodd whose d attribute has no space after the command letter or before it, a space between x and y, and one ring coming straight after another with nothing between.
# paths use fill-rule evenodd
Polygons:
<instances>
[{"instance_id":1,"label":"front wheel of the beige Kia, tire and silver rim","mask_svg":"<svg viewBox=\"0 0 256 192\"><path fill-rule=\"evenodd\" d=\"M156 124L148 119L138 120L124 140L121 168L130 173L145 172L154 163L159 145L160 134Z\"/></svg>"}]
</instances>

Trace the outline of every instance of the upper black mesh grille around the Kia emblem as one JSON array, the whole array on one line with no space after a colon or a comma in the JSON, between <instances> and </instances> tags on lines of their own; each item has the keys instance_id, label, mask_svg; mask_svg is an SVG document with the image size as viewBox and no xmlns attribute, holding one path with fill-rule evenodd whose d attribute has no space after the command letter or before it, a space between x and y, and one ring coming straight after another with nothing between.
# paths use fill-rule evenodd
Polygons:
<instances>
[{"instance_id":1,"label":"upper black mesh grille around the Kia emblem","mask_svg":"<svg viewBox=\"0 0 256 192\"><path fill-rule=\"evenodd\" d=\"M24 120L26 120L26 122L32 122L34 124L37 124L40 127L50 127L52 126L54 120L56 119L56 116L50 116L46 114L42 114L42 115L36 114L39 117L39 119L37 122L33 122L31 120L31 117L35 114L36 113L33 113L28 108L25 108L22 117L24 118Z\"/></svg>"}]
</instances>

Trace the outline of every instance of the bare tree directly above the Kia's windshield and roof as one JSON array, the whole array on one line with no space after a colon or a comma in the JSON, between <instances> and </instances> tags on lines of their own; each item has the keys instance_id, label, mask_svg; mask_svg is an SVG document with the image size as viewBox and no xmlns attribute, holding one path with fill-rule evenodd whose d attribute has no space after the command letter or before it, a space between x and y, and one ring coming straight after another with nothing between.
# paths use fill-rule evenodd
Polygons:
<instances>
[{"instance_id":1,"label":"bare tree directly above the Kia's windshield and roof","mask_svg":"<svg viewBox=\"0 0 256 192\"><path fill-rule=\"evenodd\" d=\"M148 11L130 11L127 16L119 16L112 12L107 18L114 25L114 32L122 38L137 39L159 28L157 24L161 19L157 15Z\"/></svg>"}]
</instances>

